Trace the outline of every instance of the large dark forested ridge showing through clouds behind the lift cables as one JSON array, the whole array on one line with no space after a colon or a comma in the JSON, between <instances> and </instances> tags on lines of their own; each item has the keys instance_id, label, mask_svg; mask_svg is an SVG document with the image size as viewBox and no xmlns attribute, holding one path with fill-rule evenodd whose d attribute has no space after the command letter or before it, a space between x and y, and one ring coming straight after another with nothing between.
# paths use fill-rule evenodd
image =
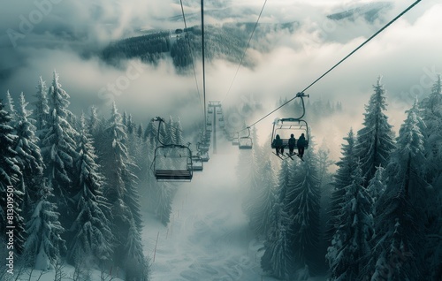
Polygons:
<instances>
[{"instance_id":1,"label":"large dark forested ridge showing through clouds behind the lift cables","mask_svg":"<svg viewBox=\"0 0 442 281\"><path fill-rule=\"evenodd\" d=\"M205 58L240 63L254 27L255 23L252 22L205 27ZM293 33L297 27L299 27L298 22L259 24L249 48L267 52L274 47L275 42L267 39L266 34ZM159 60L171 57L175 67L181 69L190 67L192 59L202 57L201 27L189 27L184 33L182 30L177 30L176 33L169 30L148 32L149 34L111 43L102 50L102 59L110 65L118 65L121 59L141 58L141 61L155 65ZM254 61L245 56L242 65L251 67Z\"/></svg>"}]
</instances>

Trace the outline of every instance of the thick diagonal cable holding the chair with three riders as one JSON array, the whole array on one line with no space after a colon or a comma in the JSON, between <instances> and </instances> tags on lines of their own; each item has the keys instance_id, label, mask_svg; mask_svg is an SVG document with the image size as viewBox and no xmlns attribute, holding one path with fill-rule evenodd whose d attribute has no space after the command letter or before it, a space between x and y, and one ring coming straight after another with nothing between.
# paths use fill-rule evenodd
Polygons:
<instances>
[{"instance_id":1,"label":"thick diagonal cable holding the chair with three riders","mask_svg":"<svg viewBox=\"0 0 442 281\"><path fill-rule=\"evenodd\" d=\"M324 78L325 75L327 75L329 72L331 72L333 69L335 69L338 65L340 65L341 63L343 63L345 60L347 60L348 57L352 56L358 49L361 49L365 44L367 44L368 42L370 42L373 38L375 38L378 34L380 34L381 32L383 32L387 27L390 27L392 25L393 22L395 22L397 19L400 19L400 17L402 17L405 13L407 13L408 11L410 11L412 8L415 7L416 4L419 4L419 2L421 2L422 0L417 0L415 1L415 3L411 4L408 6L407 9L405 9L404 11L400 12L400 14L398 16L396 16L394 19L390 20L384 27L382 27L381 29L379 29L375 34L371 35L369 39L367 39L365 42L362 42L361 45L359 45L356 49L354 49L352 52L350 52L346 57L342 58L336 65L333 65L328 71L324 72L323 75L319 76L319 78L317 78L316 80L314 80L308 87L304 88L300 93L298 93L297 95L293 96L293 98L291 98L290 100L288 100L286 103L283 103L281 105L278 106L278 108L276 108L275 110L271 110L271 112L269 112L268 114L264 115L263 118L258 119L257 121L255 121L255 123L253 123L252 125L248 125L248 127L254 126L257 123L263 121L264 118L269 117L272 113L274 113L275 111L281 109L282 107L284 107L286 104L292 102L296 97L298 97L299 95L303 94L305 91L307 91L309 89L309 87L312 87L313 85L316 84L317 81L321 80ZM247 128L244 128L241 131L246 130Z\"/></svg>"}]
</instances>

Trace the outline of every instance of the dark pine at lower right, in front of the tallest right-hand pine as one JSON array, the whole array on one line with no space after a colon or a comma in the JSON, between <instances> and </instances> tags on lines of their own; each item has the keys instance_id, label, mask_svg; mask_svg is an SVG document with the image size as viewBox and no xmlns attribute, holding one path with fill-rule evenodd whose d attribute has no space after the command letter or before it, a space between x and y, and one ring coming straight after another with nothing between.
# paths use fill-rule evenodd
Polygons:
<instances>
[{"instance_id":1,"label":"dark pine at lower right, in front of the tallest right-hand pine","mask_svg":"<svg viewBox=\"0 0 442 281\"><path fill-rule=\"evenodd\" d=\"M361 280L362 269L370 256L370 238L373 234L370 211L373 201L362 186L359 162L352 178L353 183L346 187L339 210L339 226L325 255L331 270L330 280Z\"/></svg>"}]
</instances>

